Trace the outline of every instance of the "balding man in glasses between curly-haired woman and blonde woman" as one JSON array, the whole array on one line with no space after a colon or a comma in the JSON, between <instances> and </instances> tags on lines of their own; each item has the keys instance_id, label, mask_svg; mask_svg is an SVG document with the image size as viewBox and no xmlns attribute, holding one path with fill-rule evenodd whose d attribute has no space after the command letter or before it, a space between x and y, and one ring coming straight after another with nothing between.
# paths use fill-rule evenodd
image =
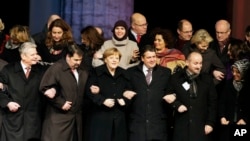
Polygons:
<instances>
[{"instance_id":1,"label":"balding man in glasses between curly-haired woman and blonde woman","mask_svg":"<svg viewBox=\"0 0 250 141\"><path fill-rule=\"evenodd\" d=\"M175 48L183 52L183 48L190 46L190 39L193 36L193 26L187 19L182 19L177 25L177 40Z\"/></svg>"}]
</instances>

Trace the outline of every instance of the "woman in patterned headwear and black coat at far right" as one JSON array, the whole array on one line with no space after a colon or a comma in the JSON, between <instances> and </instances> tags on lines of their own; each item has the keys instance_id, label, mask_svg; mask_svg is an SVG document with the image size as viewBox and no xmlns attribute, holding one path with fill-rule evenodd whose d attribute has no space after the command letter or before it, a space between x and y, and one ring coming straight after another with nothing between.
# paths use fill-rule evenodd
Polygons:
<instances>
[{"instance_id":1,"label":"woman in patterned headwear and black coat at far right","mask_svg":"<svg viewBox=\"0 0 250 141\"><path fill-rule=\"evenodd\" d=\"M220 140L229 141L235 129L245 128L250 120L248 59L232 65L233 78L226 81L219 101Z\"/></svg>"}]
</instances>

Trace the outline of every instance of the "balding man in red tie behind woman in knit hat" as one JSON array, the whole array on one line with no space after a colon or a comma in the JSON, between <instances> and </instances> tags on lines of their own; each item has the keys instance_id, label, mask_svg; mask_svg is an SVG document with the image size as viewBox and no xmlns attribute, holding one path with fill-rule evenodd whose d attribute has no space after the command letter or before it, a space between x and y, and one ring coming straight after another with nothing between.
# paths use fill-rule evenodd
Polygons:
<instances>
[{"instance_id":1,"label":"balding man in red tie behind woman in knit hat","mask_svg":"<svg viewBox=\"0 0 250 141\"><path fill-rule=\"evenodd\" d=\"M133 13L130 17L130 28L128 31L128 38L137 42L139 49L141 50L146 44L152 44L153 39L150 40L148 34L147 19L141 13Z\"/></svg>"}]
</instances>

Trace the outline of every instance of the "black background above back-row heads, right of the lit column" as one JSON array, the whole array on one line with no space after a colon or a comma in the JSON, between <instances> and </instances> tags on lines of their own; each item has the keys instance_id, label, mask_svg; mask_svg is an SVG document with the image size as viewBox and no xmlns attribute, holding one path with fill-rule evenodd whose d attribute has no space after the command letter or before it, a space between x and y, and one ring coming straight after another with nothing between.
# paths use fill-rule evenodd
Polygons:
<instances>
[{"instance_id":1,"label":"black background above back-row heads, right of the lit column","mask_svg":"<svg viewBox=\"0 0 250 141\"><path fill-rule=\"evenodd\" d=\"M149 30L164 27L176 33L177 23L185 18L191 21L193 29L207 29L214 34L215 22L232 19L232 0L135 0L134 11L143 13Z\"/></svg>"}]
</instances>

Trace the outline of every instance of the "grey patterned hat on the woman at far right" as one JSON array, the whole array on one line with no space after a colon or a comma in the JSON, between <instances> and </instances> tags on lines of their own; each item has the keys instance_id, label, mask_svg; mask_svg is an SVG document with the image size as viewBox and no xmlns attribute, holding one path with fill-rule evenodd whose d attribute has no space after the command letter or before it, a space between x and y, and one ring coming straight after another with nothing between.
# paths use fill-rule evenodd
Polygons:
<instances>
[{"instance_id":1,"label":"grey patterned hat on the woman at far right","mask_svg":"<svg viewBox=\"0 0 250 141\"><path fill-rule=\"evenodd\" d=\"M250 62L248 59L242 59L235 61L232 67L235 67L239 70L241 77L244 76L246 70L249 68Z\"/></svg>"}]
</instances>

